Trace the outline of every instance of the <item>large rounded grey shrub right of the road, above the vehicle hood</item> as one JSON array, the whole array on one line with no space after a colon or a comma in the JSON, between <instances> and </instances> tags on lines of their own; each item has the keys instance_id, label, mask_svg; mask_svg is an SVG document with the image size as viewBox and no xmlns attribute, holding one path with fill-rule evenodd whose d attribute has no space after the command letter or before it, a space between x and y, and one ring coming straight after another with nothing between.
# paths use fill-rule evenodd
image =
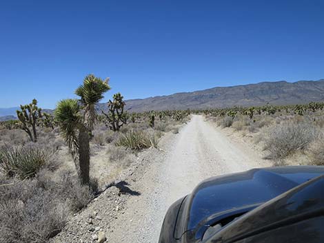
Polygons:
<instances>
[{"instance_id":1,"label":"large rounded grey shrub right of the road, above the vehicle hood","mask_svg":"<svg viewBox=\"0 0 324 243\"><path fill-rule=\"evenodd\" d=\"M267 129L265 149L273 158L283 158L294 151L304 151L318 136L318 129L309 123L282 123Z\"/></svg>"}]
</instances>

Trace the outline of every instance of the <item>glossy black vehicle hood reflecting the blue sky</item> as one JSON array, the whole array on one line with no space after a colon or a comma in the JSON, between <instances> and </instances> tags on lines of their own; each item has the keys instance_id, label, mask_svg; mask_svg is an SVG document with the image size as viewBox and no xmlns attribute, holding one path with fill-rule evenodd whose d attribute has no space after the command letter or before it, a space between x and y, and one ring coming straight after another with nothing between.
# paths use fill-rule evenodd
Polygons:
<instances>
[{"instance_id":1,"label":"glossy black vehicle hood reflecting the blue sky","mask_svg":"<svg viewBox=\"0 0 324 243\"><path fill-rule=\"evenodd\" d=\"M194 242L222 215L250 211L323 174L324 167L270 167L204 180L183 201L174 236Z\"/></svg>"}]
</instances>

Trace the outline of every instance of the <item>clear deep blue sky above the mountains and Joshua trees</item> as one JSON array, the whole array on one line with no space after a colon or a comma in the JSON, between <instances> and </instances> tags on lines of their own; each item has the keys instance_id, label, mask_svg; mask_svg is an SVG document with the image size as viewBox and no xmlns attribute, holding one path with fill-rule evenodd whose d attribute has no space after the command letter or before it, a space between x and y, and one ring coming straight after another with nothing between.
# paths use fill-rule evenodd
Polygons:
<instances>
[{"instance_id":1,"label":"clear deep blue sky above the mountains and Joshua trees","mask_svg":"<svg viewBox=\"0 0 324 243\"><path fill-rule=\"evenodd\" d=\"M0 1L0 107L324 78L324 0Z\"/></svg>"}]
</instances>

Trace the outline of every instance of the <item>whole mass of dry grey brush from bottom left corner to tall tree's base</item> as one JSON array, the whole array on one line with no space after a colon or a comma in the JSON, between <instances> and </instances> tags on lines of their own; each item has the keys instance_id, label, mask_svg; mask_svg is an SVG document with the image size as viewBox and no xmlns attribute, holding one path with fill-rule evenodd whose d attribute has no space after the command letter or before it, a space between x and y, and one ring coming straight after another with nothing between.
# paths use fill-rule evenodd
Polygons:
<instances>
[{"instance_id":1,"label":"whole mass of dry grey brush from bottom left corner to tall tree's base","mask_svg":"<svg viewBox=\"0 0 324 243\"><path fill-rule=\"evenodd\" d=\"M0 242L48 242L97 191L95 180L88 187L70 173L53 177L48 169L30 180L0 176Z\"/></svg>"}]
</instances>

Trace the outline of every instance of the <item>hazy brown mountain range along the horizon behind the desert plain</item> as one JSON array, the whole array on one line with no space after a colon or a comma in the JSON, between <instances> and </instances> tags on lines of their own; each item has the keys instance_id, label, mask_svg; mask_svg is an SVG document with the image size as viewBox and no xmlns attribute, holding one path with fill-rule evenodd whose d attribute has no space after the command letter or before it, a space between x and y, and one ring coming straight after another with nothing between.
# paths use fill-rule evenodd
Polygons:
<instances>
[{"instance_id":1,"label":"hazy brown mountain range along the horizon behind the desert plain","mask_svg":"<svg viewBox=\"0 0 324 243\"><path fill-rule=\"evenodd\" d=\"M236 106L295 105L324 101L324 79L318 81L262 82L231 87L213 87L195 92L182 92L167 96L127 100L128 112L145 112L165 109L212 109ZM19 107L0 108L1 116L16 116ZM97 110L107 111L100 103ZM43 109L52 113L51 109ZM0 118L2 120L3 118Z\"/></svg>"}]
</instances>

